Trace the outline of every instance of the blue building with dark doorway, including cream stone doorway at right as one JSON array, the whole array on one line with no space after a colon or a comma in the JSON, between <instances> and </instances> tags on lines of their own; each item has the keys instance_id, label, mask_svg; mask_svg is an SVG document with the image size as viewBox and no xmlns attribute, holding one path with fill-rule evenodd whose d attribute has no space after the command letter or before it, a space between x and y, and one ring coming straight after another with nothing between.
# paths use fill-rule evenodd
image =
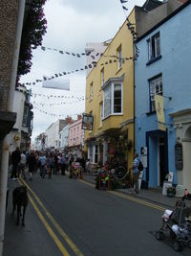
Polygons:
<instances>
[{"instance_id":1,"label":"blue building with dark doorway, including cream stone doorway at right","mask_svg":"<svg viewBox=\"0 0 191 256\"><path fill-rule=\"evenodd\" d=\"M135 62L136 151L141 154L146 187L173 183L191 193L191 1L138 37ZM157 117L156 95L165 121ZM162 113L162 105L159 104ZM159 128L159 125L162 128Z\"/></svg>"}]
</instances>

